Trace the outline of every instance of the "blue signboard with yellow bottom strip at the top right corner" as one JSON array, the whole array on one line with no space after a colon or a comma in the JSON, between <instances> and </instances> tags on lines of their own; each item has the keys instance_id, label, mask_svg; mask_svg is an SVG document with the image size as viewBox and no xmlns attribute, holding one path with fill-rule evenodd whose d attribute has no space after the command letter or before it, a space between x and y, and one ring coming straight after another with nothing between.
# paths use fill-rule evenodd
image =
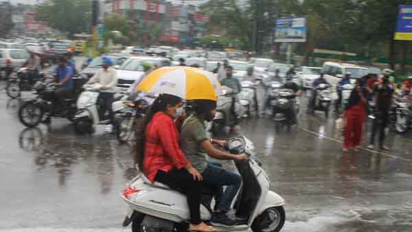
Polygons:
<instances>
[{"instance_id":1,"label":"blue signboard with yellow bottom strip at the top right corner","mask_svg":"<svg viewBox=\"0 0 412 232\"><path fill-rule=\"evenodd\" d=\"M412 5L400 5L395 40L412 40Z\"/></svg>"}]
</instances>

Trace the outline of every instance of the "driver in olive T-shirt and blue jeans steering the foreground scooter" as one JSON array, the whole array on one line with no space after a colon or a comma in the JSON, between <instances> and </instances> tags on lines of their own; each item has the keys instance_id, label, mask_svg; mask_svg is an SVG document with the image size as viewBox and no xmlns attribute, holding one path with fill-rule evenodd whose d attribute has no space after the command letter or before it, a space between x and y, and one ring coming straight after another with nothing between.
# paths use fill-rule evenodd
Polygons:
<instances>
[{"instance_id":1,"label":"driver in olive T-shirt and blue jeans steering the foreground scooter","mask_svg":"<svg viewBox=\"0 0 412 232\"><path fill-rule=\"evenodd\" d=\"M213 144L226 146L226 141L209 139L207 137L205 121L212 121L216 114L216 101L194 100L194 113L183 122L180 135L180 144L187 159L203 176L203 181L210 186L227 186L218 202L217 211L213 213L212 224L233 226L236 220L227 216L231 202L242 185L242 178L238 174L229 172L222 167L209 163L207 156L220 160L244 161L246 154L228 154L214 148Z\"/></svg>"}]
</instances>

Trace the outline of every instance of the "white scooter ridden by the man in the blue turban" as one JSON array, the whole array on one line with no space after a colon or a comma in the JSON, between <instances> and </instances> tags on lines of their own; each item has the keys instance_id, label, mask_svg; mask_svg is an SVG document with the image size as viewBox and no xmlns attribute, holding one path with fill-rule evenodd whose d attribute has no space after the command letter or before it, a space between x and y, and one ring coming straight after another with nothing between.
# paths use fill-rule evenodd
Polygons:
<instances>
[{"instance_id":1,"label":"white scooter ridden by the man in the blue turban","mask_svg":"<svg viewBox=\"0 0 412 232\"><path fill-rule=\"evenodd\" d=\"M84 91L77 102L78 111L73 119L74 128L79 134L93 133L95 126L110 124L110 119L105 119L105 115L99 113L98 99L101 87L98 83L83 86Z\"/></svg>"}]
</instances>

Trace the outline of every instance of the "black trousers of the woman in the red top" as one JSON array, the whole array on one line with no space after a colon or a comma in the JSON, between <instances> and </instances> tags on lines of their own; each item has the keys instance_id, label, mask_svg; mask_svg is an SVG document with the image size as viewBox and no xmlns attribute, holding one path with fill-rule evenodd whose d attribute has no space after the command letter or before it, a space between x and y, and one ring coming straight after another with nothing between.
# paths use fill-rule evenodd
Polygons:
<instances>
[{"instance_id":1,"label":"black trousers of the woman in the red top","mask_svg":"<svg viewBox=\"0 0 412 232\"><path fill-rule=\"evenodd\" d=\"M190 223L199 224L201 220L201 188L202 181L194 181L192 174L185 169L172 168L169 172L157 171L155 181L168 185L187 196Z\"/></svg>"}]
</instances>

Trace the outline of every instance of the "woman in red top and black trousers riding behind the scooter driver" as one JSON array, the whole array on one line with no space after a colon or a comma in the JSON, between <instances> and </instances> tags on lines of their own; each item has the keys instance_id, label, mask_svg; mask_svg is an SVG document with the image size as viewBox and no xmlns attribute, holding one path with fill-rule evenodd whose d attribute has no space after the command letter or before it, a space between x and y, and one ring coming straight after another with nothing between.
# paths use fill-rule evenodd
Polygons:
<instances>
[{"instance_id":1,"label":"woman in red top and black trousers riding behind the scooter driver","mask_svg":"<svg viewBox=\"0 0 412 232\"><path fill-rule=\"evenodd\" d=\"M150 106L145 119L147 126L144 126L144 156L137 163L150 181L179 189L187 196L190 231L211 232L215 231L214 227L201 220L202 176L179 147L179 132L173 118L181 116L182 105L181 98L162 94Z\"/></svg>"}]
</instances>

